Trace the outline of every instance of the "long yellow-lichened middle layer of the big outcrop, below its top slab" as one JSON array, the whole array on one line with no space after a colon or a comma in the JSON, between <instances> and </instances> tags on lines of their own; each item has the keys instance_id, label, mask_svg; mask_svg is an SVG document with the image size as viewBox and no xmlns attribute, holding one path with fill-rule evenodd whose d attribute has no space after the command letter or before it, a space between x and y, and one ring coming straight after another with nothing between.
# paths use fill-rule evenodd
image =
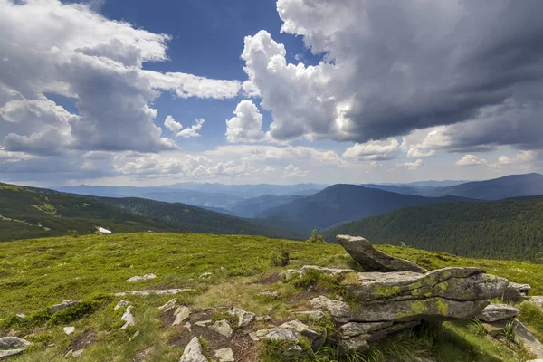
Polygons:
<instances>
[{"instance_id":1,"label":"long yellow-lichened middle layer of the big outcrop, below its top slab","mask_svg":"<svg viewBox=\"0 0 543 362\"><path fill-rule=\"evenodd\" d=\"M319 296L310 300L314 308L328 311L338 322L406 321L413 319L471 319L488 305L486 300L395 300L364 304L363 308L350 310L348 304Z\"/></svg>"}]
</instances>

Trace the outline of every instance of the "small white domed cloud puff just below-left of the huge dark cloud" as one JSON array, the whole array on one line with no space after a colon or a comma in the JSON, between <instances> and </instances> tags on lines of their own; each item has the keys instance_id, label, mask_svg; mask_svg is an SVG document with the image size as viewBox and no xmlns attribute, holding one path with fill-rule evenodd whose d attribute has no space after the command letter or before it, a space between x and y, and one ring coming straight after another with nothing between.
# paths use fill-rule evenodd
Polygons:
<instances>
[{"instance_id":1,"label":"small white domed cloud puff just below-left of the huge dark cloud","mask_svg":"<svg viewBox=\"0 0 543 362\"><path fill-rule=\"evenodd\" d=\"M226 120L228 142L258 142L265 138L262 114L251 100L240 101L233 114L235 117Z\"/></svg>"}]
</instances>

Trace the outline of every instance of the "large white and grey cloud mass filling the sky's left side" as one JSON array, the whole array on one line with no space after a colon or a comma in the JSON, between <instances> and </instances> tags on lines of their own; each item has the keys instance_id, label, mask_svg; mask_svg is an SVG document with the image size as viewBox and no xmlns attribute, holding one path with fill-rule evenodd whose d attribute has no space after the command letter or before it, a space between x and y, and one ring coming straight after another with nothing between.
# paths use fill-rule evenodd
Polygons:
<instances>
[{"instance_id":1,"label":"large white and grey cloud mass filling the sky's left side","mask_svg":"<svg viewBox=\"0 0 543 362\"><path fill-rule=\"evenodd\" d=\"M150 105L159 90L224 99L241 87L144 70L146 62L167 61L170 36L110 21L85 4L0 0L0 8L0 144L6 151L174 149L154 124L157 110ZM73 98L78 113L49 100L49 93ZM198 127L181 136L195 136Z\"/></svg>"}]
</instances>

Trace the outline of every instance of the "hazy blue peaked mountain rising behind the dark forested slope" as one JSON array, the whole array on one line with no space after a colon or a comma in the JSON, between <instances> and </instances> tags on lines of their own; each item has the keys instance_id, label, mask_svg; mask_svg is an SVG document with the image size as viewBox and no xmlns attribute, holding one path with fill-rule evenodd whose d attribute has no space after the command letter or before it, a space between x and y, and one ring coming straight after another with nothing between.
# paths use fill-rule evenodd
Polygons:
<instances>
[{"instance_id":1,"label":"hazy blue peaked mountain rising behind the dark forested slope","mask_svg":"<svg viewBox=\"0 0 543 362\"><path fill-rule=\"evenodd\" d=\"M355 185L334 185L315 195L272 207L259 217L281 217L290 222L310 224L312 227L329 227L333 224L356 220L392 210L421 204L451 201L473 201L459 197L422 197L395 194L376 188Z\"/></svg>"}]
</instances>

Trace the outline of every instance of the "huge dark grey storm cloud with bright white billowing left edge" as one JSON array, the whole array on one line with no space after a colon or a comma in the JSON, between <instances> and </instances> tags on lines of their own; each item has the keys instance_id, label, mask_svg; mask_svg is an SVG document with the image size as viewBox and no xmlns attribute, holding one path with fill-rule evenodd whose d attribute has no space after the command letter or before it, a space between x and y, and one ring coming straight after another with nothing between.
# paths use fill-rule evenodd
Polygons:
<instances>
[{"instance_id":1,"label":"huge dark grey storm cloud with bright white billowing left edge","mask_svg":"<svg viewBox=\"0 0 543 362\"><path fill-rule=\"evenodd\" d=\"M270 33L245 38L246 88L271 110L272 138L366 143L455 125L450 149L541 147L543 3L278 0L277 9L281 32L324 56L292 64ZM406 152L428 157L430 146Z\"/></svg>"}]
</instances>

